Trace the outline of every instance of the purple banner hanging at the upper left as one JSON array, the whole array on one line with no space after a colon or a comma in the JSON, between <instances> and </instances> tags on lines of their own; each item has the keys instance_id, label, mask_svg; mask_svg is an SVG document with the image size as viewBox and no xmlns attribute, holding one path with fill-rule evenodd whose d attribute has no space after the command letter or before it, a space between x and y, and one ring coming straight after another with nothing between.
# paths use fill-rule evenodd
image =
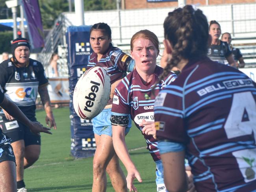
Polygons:
<instances>
[{"instance_id":1,"label":"purple banner hanging at the upper left","mask_svg":"<svg viewBox=\"0 0 256 192\"><path fill-rule=\"evenodd\" d=\"M22 0L21 2L28 24L28 34L32 49L44 47L43 24L38 0Z\"/></svg>"}]
</instances>

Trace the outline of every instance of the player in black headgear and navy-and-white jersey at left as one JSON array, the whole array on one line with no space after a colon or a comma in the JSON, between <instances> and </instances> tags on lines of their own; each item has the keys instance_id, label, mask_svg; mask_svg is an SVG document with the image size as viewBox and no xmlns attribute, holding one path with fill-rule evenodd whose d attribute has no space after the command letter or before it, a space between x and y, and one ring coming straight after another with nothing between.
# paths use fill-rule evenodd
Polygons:
<instances>
[{"instance_id":1,"label":"player in black headgear and navy-and-white jersey at left","mask_svg":"<svg viewBox=\"0 0 256 192\"><path fill-rule=\"evenodd\" d=\"M0 85L5 95L31 120L35 118L35 100L39 93L46 112L46 124L56 129L56 123L50 106L43 65L30 59L30 44L25 38L17 38L11 43L12 57L0 64ZM41 150L41 137L31 133L29 127L17 122L7 111L2 110L2 126L4 134L11 138L17 163L18 192L26 192L24 169L37 161Z\"/></svg>"}]
</instances>

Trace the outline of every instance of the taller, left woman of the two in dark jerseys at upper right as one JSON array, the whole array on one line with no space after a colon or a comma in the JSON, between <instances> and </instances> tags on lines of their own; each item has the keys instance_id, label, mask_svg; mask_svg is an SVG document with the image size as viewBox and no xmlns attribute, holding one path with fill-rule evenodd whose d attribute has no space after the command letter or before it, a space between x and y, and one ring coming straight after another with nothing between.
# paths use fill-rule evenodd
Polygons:
<instances>
[{"instance_id":1,"label":"taller, left woman of the two in dark jerseys at upper right","mask_svg":"<svg viewBox=\"0 0 256 192\"><path fill-rule=\"evenodd\" d=\"M219 40L221 26L217 21L210 21L209 34L211 35L211 46L208 48L208 57L222 64L225 64L226 59L230 66L236 67L236 61L233 58L230 46L227 42Z\"/></svg>"}]
</instances>

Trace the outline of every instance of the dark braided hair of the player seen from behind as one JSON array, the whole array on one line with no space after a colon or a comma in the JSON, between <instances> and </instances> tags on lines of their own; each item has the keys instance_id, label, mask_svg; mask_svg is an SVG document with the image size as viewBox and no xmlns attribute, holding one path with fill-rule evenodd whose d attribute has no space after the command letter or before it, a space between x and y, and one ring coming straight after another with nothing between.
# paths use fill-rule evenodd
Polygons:
<instances>
[{"instance_id":1,"label":"dark braided hair of the player seen from behind","mask_svg":"<svg viewBox=\"0 0 256 192\"><path fill-rule=\"evenodd\" d=\"M172 58L164 68L161 79L182 59L206 56L208 50L208 22L200 9L191 5L169 12L164 24L165 39L173 46Z\"/></svg>"}]
</instances>

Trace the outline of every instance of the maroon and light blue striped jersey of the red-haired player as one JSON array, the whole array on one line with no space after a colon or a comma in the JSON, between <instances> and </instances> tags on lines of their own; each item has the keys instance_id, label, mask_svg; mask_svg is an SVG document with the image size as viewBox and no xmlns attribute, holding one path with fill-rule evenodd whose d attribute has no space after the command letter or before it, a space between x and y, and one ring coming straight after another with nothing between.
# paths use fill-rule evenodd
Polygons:
<instances>
[{"instance_id":1,"label":"maroon and light blue striped jersey of the red-haired player","mask_svg":"<svg viewBox=\"0 0 256 192\"><path fill-rule=\"evenodd\" d=\"M155 87L153 94L152 88L162 72L163 69L160 66L156 66L154 77L147 85L143 83L137 70L133 70L127 77L123 78L115 89L111 109L112 114L119 116L131 115L132 120L140 130L143 129L143 127L139 126L143 119L154 122L155 97L163 87L169 85L176 78L176 75L170 72L167 78ZM116 125L112 121L111 124ZM157 140L152 135L143 135L147 142L147 149L150 151L154 161L158 161L160 154L157 148Z\"/></svg>"}]
</instances>

